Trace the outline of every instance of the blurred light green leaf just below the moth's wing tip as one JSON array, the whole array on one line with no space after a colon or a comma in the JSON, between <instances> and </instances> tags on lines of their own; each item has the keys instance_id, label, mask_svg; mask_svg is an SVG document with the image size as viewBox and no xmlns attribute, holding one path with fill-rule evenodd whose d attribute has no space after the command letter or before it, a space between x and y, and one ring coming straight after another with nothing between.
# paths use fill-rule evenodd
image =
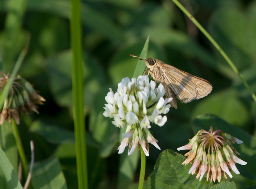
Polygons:
<instances>
[{"instance_id":1,"label":"blurred light green leaf just below the moth's wing tip","mask_svg":"<svg viewBox=\"0 0 256 189\"><path fill-rule=\"evenodd\" d=\"M226 90L209 94L194 108L192 118L203 114L215 114L227 122L242 127L248 121L249 112L246 106L239 100L234 90Z\"/></svg>"}]
</instances>

